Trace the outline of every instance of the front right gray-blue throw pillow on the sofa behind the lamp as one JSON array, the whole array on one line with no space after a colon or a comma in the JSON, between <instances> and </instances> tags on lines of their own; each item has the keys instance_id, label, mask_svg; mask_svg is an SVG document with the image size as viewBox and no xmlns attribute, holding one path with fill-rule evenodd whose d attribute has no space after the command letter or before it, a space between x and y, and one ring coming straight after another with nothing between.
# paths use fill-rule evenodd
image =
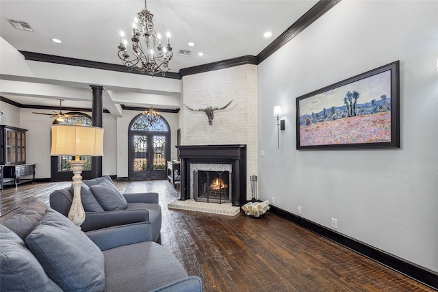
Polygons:
<instances>
[{"instance_id":1,"label":"front right gray-blue throw pillow on the sofa behind the lamp","mask_svg":"<svg viewBox=\"0 0 438 292\"><path fill-rule=\"evenodd\" d=\"M125 210L128 202L113 183L107 180L101 181L98 185L90 187L94 198L106 211Z\"/></svg>"}]
</instances>

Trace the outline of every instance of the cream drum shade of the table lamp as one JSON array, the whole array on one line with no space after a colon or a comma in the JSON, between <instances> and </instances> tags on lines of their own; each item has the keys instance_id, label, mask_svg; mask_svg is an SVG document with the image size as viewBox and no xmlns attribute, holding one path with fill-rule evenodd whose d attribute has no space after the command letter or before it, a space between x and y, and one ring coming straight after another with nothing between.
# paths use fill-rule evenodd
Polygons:
<instances>
[{"instance_id":1,"label":"cream drum shade of the table lamp","mask_svg":"<svg viewBox=\"0 0 438 292\"><path fill-rule=\"evenodd\" d=\"M56 124L51 127L50 155L102 156L103 129Z\"/></svg>"}]
</instances>

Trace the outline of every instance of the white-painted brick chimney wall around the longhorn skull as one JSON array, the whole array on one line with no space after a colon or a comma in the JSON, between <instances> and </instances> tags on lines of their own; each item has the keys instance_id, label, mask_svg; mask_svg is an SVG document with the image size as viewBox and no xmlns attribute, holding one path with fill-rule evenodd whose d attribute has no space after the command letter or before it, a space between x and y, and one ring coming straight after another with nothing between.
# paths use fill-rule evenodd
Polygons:
<instances>
[{"instance_id":1,"label":"white-painted brick chimney wall around the longhorn skull","mask_svg":"<svg viewBox=\"0 0 438 292\"><path fill-rule=\"evenodd\" d=\"M192 109L223 107L214 111L209 125L203 111L181 106L181 145L246 144L247 194L251 198L249 176L258 174L257 163L257 66L242 65L183 77L182 103Z\"/></svg>"}]
</instances>

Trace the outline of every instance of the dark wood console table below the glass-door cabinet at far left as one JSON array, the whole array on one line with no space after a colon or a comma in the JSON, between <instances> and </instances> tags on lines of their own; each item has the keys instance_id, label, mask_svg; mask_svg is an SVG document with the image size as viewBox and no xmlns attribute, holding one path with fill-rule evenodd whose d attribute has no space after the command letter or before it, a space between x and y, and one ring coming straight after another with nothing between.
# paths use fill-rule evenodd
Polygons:
<instances>
[{"instance_id":1,"label":"dark wood console table below the glass-door cabinet at far left","mask_svg":"<svg viewBox=\"0 0 438 292\"><path fill-rule=\"evenodd\" d=\"M15 185L35 181L36 164L0 165L0 189L4 185Z\"/></svg>"}]
</instances>

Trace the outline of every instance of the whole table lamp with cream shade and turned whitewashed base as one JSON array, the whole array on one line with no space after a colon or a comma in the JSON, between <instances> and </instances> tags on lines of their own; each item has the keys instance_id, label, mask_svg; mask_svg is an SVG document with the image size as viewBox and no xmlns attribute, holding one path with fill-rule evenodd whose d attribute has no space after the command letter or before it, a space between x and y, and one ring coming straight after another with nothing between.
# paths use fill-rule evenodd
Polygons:
<instances>
[{"instance_id":1,"label":"whole table lamp with cream shade and turned whitewashed base","mask_svg":"<svg viewBox=\"0 0 438 292\"><path fill-rule=\"evenodd\" d=\"M68 212L68 219L79 229L85 221L85 211L81 201L82 170L86 160L80 156L103 155L103 129L99 127L71 126L55 124L51 127L52 143L50 155L75 156L68 161L73 170L73 202Z\"/></svg>"}]
</instances>

